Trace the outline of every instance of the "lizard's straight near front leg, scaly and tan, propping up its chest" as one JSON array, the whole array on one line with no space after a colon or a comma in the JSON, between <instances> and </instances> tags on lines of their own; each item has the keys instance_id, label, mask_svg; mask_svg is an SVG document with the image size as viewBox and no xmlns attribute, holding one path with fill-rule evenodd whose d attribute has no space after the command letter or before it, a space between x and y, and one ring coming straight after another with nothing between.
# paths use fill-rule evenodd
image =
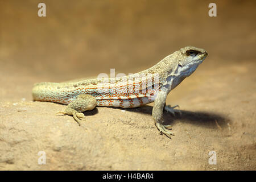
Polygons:
<instances>
[{"instance_id":1,"label":"lizard's straight near front leg, scaly and tan, propping up its chest","mask_svg":"<svg viewBox=\"0 0 256 182\"><path fill-rule=\"evenodd\" d=\"M157 94L155 101L154 101L154 107L152 110L152 117L155 120L155 126L160 131L160 134L165 134L167 137L171 138L171 135L174 135L171 131L168 131L167 129L171 129L170 125L163 125L163 109L166 105L166 97L167 92L159 91Z\"/></svg>"}]
</instances>

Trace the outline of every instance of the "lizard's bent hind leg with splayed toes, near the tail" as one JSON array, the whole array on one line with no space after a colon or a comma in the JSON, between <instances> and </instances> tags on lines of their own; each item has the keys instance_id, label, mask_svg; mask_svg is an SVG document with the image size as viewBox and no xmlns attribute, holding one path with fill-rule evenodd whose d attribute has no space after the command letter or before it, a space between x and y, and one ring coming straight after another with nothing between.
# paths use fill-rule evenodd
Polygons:
<instances>
[{"instance_id":1,"label":"lizard's bent hind leg with splayed toes, near the tail","mask_svg":"<svg viewBox=\"0 0 256 182\"><path fill-rule=\"evenodd\" d=\"M68 104L64 111L59 111L57 113L73 115L73 118L80 126L80 118L85 118L82 112L86 110L93 110L96 107L96 104L96 98L93 96L89 94L80 94L77 96L75 101Z\"/></svg>"}]
</instances>

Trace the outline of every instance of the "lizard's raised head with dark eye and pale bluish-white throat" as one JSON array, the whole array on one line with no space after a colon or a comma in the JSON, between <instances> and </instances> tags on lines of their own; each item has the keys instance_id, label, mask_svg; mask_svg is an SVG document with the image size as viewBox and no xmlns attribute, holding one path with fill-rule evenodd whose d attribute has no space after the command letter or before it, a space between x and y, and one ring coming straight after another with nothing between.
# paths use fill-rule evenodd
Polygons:
<instances>
[{"instance_id":1,"label":"lizard's raised head with dark eye and pale bluish-white throat","mask_svg":"<svg viewBox=\"0 0 256 182\"><path fill-rule=\"evenodd\" d=\"M182 73L183 77L191 75L208 55L205 49L193 46L181 48L176 53L179 60L177 72Z\"/></svg>"}]
</instances>

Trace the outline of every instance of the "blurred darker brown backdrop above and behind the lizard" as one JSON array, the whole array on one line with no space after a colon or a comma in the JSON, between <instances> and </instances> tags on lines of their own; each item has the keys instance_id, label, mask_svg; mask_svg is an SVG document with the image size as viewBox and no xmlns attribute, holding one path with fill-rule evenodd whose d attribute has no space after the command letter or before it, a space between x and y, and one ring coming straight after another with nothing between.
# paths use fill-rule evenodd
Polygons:
<instances>
[{"instance_id":1,"label":"blurred darker brown backdrop above and behind the lizard","mask_svg":"<svg viewBox=\"0 0 256 182\"><path fill-rule=\"evenodd\" d=\"M20 76L137 72L188 45L207 49L213 65L256 56L254 1L216 1L217 17L212 1L44 1L42 18L39 2L0 4L1 67Z\"/></svg>"}]
</instances>

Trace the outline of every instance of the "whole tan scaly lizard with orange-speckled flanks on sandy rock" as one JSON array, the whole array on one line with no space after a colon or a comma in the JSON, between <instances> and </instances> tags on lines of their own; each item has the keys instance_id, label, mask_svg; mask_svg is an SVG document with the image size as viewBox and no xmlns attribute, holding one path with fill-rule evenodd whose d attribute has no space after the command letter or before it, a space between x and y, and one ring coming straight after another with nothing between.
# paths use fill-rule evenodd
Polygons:
<instances>
[{"instance_id":1,"label":"whole tan scaly lizard with orange-speckled flanks on sandy rock","mask_svg":"<svg viewBox=\"0 0 256 182\"><path fill-rule=\"evenodd\" d=\"M172 114L179 110L174 109L177 105L166 105L167 95L190 76L207 55L205 49L187 46L164 57L151 68L129 76L39 82L32 88L32 97L34 101L67 105L64 111L57 113L72 115L79 125L80 120L85 118L82 112L93 110L96 106L133 108L154 102L152 118L155 126L160 134L171 138L174 133L170 131L170 125L163 125L163 110Z\"/></svg>"}]
</instances>

